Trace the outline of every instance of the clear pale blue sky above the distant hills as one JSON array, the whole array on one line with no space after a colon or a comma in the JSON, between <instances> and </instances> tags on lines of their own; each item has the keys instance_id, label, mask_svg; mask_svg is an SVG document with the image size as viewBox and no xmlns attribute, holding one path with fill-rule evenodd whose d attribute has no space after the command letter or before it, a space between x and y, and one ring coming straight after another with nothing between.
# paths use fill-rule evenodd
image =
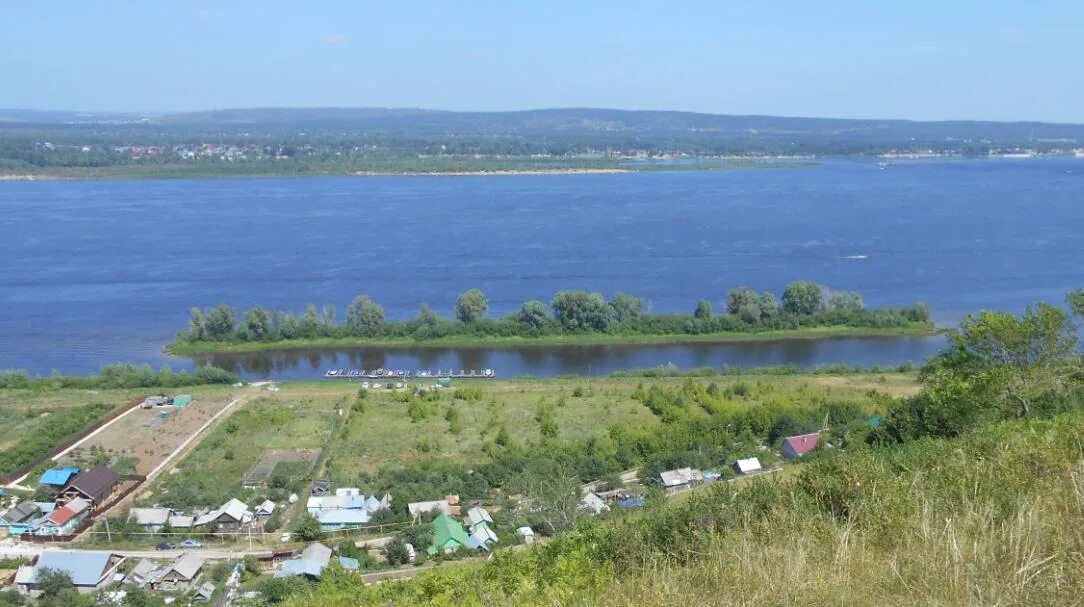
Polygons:
<instances>
[{"instance_id":1,"label":"clear pale blue sky above the distant hills","mask_svg":"<svg viewBox=\"0 0 1084 607\"><path fill-rule=\"evenodd\" d=\"M0 5L0 107L682 109L1084 122L1084 2Z\"/></svg>"}]
</instances>

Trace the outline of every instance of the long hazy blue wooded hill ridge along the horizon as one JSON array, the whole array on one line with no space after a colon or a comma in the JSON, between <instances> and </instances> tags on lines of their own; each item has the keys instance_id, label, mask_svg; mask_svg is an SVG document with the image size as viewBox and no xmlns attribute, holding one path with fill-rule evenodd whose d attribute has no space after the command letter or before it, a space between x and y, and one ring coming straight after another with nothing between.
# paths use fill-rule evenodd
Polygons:
<instances>
[{"instance_id":1,"label":"long hazy blue wooded hill ridge along the horizon","mask_svg":"<svg viewBox=\"0 0 1084 607\"><path fill-rule=\"evenodd\" d=\"M919 121L784 116L738 116L694 112L597 108L522 112L444 112L384 107L241 108L175 114L79 113L0 109L4 126L139 125L192 131L297 131L402 137L505 137L667 142L763 141L866 142L882 146L931 142L1084 142L1084 125Z\"/></svg>"}]
</instances>

